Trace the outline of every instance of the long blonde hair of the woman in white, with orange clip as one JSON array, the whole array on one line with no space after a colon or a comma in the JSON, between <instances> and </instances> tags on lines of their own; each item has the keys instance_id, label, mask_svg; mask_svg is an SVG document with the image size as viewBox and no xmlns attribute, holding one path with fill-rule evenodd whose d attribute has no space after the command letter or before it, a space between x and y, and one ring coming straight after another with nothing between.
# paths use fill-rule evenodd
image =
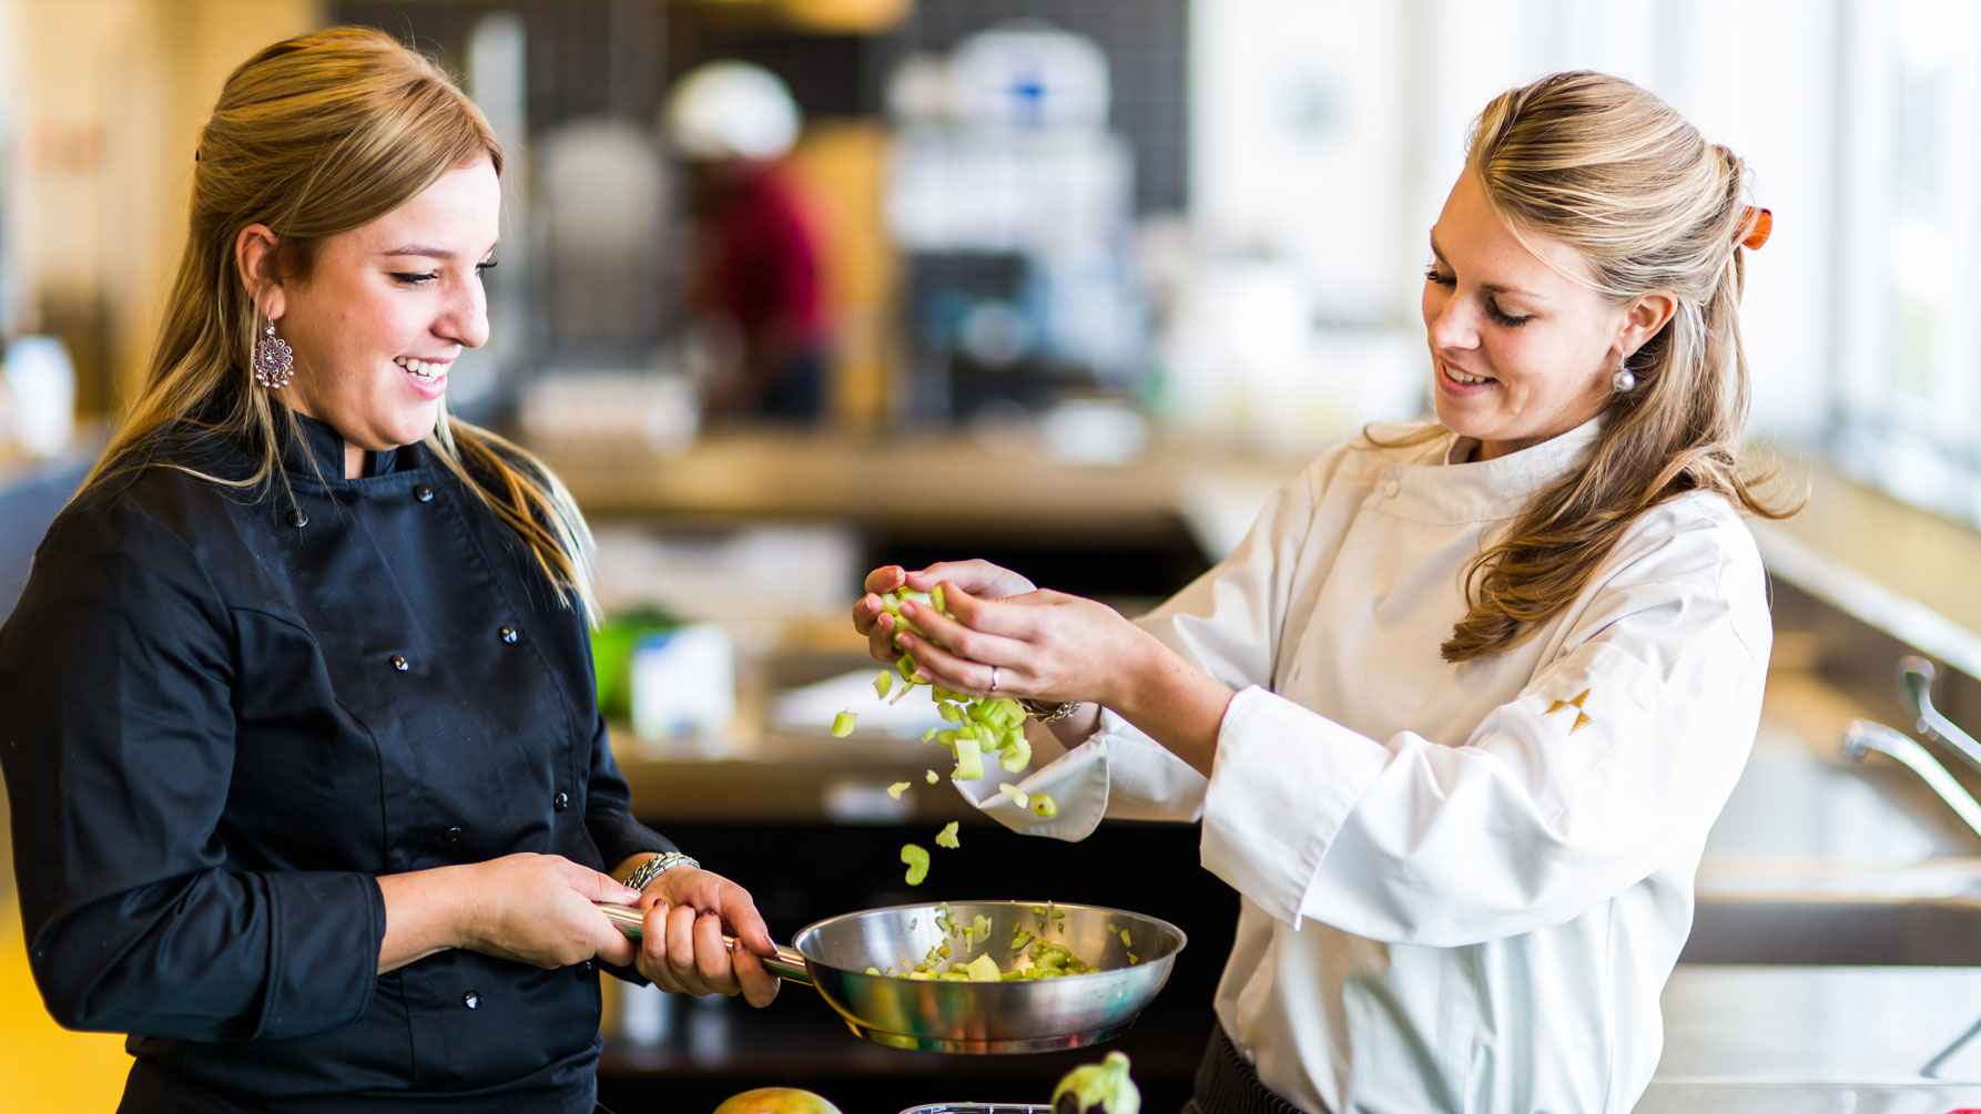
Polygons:
<instances>
[{"instance_id":1,"label":"long blonde hair of the woman in white, with orange clip","mask_svg":"<svg viewBox=\"0 0 1981 1114\"><path fill-rule=\"evenodd\" d=\"M1446 661L1531 635L1666 499L1716 491L1767 518L1799 511L1755 495L1767 475L1741 475L1739 239L1755 220L1745 170L1656 95L1607 73L1553 73L1480 113L1466 172L1513 233L1573 247L1615 305L1664 291L1678 311L1630 356L1638 386L1609 404L1587 467L1537 493L1466 566L1470 613L1444 641Z\"/></svg>"}]
</instances>

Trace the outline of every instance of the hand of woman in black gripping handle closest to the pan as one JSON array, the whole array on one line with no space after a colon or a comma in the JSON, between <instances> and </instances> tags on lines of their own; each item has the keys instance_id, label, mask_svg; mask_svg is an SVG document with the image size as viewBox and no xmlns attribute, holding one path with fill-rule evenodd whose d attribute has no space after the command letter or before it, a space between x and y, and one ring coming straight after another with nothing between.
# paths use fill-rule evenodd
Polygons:
<instances>
[{"instance_id":1,"label":"hand of woman in black gripping handle closest to the pan","mask_svg":"<svg viewBox=\"0 0 1981 1114\"><path fill-rule=\"evenodd\" d=\"M636 966L660 989L741 993L755 1007L777 997L782 983L759 960L775 956L777 944L743 886L683 865L648 882L638 908L646 924ZM741 940L735 952L723 944L725 928Z\"/></svg>"}]
</instances>

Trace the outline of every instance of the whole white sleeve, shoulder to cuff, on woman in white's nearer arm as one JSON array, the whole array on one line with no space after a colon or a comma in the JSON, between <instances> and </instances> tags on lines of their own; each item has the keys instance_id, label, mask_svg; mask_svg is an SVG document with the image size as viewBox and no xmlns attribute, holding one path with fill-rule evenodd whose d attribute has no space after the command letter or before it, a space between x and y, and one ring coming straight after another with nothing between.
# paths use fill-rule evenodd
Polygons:
<instances>
[{"instance_id":1,"label":"whole white sleeve, shoulder to cuff, on woman in white's nearer arm","mask_svg":"<svg viewBox=\"0 0 1981 1114\"><path fill-rule=\"evenodd\" d=\"M1767 673L1751 538L1680 530L1607 578L1565 649L1462 746L1375 740L1264 689L1232 700L1204 867L1268 914L1464 946L1579 916L1696 855ZM1462 679L1460 679L1462 681Z\"/></svg>"}]
</instances>

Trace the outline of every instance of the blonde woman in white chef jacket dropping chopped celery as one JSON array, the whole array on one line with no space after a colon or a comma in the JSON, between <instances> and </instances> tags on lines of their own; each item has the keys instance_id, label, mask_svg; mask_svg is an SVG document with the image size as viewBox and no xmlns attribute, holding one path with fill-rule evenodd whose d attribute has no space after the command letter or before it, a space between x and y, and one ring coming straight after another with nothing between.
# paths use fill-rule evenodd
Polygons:
<instances>
[{"instance_id":1,"label":"blonde woman in white chef jacket dropping chopped celery","mask_svg":"<svg viewBox=\"0 0 1981 1114\"><path fill-rule=\"evenodd\" d=\"M1741 511L1743 164L1654 95L1557 73L1496 97L1430 228L1436 423L1282 487L1155 613L985 562L897 643L1026 698L1016 831L1202 821L1242 896L1195 1108L1622 1112L1662 1045L1706 833L1747 758L1771 627ZM1052 744L1056 740L1056 746Z\"/></svg>"}]
</instances>

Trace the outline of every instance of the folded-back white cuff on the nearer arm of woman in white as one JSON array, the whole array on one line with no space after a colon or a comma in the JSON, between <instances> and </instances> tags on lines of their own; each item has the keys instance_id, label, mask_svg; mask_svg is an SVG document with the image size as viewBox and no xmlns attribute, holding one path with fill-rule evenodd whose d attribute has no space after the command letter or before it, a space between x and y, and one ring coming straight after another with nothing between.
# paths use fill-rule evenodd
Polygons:
<instances>
[{"instance_id":1,"label":"folded-back white cuff on the nearer arm of woman in white","mask_svg":"<svg viewBox=\"0 0 1981 1114\"><path fill-rule=\"evenodd\" d=\"M1300 928L1307 886L1355 801L1389 764L1383 744L1250 687L1218 726L1202 865Z\"/></svg>"}]
</instances>

